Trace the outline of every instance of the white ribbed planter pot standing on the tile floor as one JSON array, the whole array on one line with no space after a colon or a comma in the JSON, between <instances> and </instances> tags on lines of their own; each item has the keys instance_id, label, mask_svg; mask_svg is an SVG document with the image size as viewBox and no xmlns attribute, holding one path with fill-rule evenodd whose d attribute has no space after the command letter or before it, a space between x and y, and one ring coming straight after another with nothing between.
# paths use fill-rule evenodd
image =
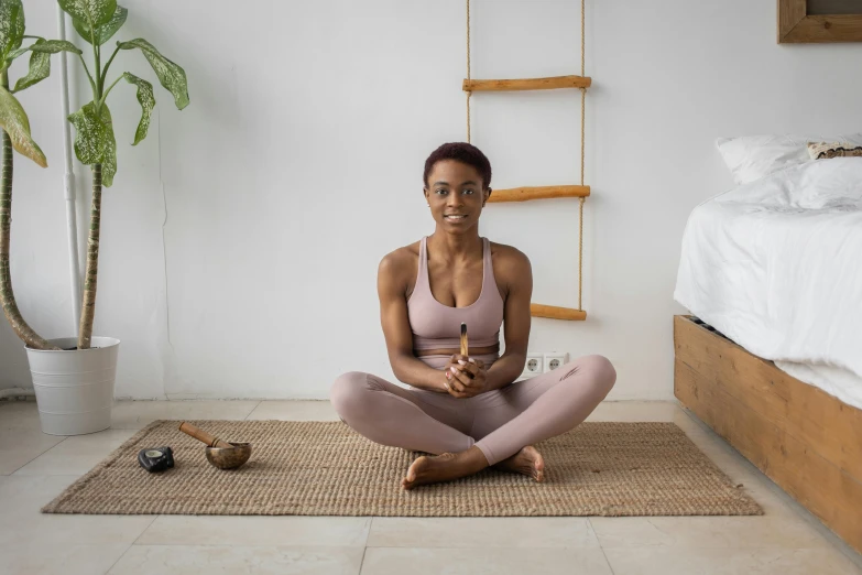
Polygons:
<instances>
[{"instance_id":1,"label":"white ribbed planter pot standing on the tile floor","mask_svg":"<svg viewBox=\"0 0 862 575\"><path fill-rule=\"evenodd\" d=\"M51 343L61 349L78 345L75 337ZM43 433L81 435L111 426L120 340L94 337L91 345L70 351L26 348Z\"/></svg>"}]
</instances>

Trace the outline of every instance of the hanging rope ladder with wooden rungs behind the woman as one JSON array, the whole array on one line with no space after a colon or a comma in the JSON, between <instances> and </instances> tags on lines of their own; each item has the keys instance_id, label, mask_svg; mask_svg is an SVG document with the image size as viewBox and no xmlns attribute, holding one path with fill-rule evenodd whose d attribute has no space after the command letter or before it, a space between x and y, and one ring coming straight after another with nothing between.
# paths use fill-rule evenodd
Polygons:
<instances>
[{"instance_id":1,"label":"hanging rope ladder with wooden rungs behind the woman","mask_svg":"<svg viewBox=\"0 0 862 575\"><path fill-rule=\"evenodd\" d=\"M590 195L590 186L583 184L583 148L585 119L587 107L587 88L592 78L585 75L585 0L580 2L580 76L555 76L550 78L528 79L472 79L470 75L470 0L467 0L467 78L461 89L467 93L467 141L470 142L470 98L473 91L512 91L512 90L552 90L575 88L580 90L580 185L513 187L494 189L489 202L526 202L530 199L546 199L558 197L577 197L578 209L578 307L558 307L531 303L530 312L534 317L552 319L585 321L583 311L583 203Z\"/></svg>"}]
</instances>

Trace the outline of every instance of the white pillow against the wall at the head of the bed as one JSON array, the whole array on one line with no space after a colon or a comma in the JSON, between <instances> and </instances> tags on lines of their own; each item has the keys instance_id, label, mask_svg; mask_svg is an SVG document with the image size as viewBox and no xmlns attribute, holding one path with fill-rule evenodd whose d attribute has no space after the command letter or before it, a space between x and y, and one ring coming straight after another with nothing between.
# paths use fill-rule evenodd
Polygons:
<instances>
[{"instance_id":1,"label":"white pillow against the wall at the head of the bed","mask_svg":"<svg viewBox=\"0 0 862 575\"><path fill-rule=\"evenodd\" d=\"M862 133L852 135L745 135L719 138L716 145L738 185L760 180L785 167L810 162L808 142L848 142L862 145Z\"/></svg>"}]
</instances>

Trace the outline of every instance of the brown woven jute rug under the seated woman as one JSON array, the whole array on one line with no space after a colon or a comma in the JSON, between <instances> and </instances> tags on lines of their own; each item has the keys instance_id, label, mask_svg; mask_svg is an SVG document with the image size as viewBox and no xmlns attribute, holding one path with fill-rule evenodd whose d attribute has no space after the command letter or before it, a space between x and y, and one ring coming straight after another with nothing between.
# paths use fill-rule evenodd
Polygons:
<instances>
[{"instance_id":1,"label":"brown woven jute rug under the seated woman","mask_svg":"<svg viewBox=\"0 0 862 575\"><path fill-rule=\"evenodd\" d=\"M204 444L156 421L54 501L46 513L215 516L749 516L761 507L673 423L583 423L536 445L546 481L487 469L412 491L400 482L418 453L377 445L341 422L194 421L249 442L234 470ZM149 474L144 447L170 445L176 465Z\"/></svg>"}]
</instances>

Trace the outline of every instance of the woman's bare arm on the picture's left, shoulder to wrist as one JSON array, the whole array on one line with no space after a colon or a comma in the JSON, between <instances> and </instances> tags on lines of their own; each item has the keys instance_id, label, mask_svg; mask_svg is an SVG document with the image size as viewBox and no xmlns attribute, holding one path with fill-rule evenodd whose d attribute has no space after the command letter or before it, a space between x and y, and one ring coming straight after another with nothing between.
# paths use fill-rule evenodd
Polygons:
<instances>
[{"instance_id":1,"label":"woman's bare arm on the picture's left, shoulder to wrist","mask_svg":"<svg viewBox=\"0 0 862 575\"><path fill-rule=\"evenodd\" d=\"M392 371L399 381L414 388L447 393L446 375L428 367L413 355L413 332L407 316L407 278L412 269L411 253L402 248L389 253L378 268L380 323L386 338L386 351ZM520 373L520 371L519 371Z\"/></svg>"}]
</instances>

